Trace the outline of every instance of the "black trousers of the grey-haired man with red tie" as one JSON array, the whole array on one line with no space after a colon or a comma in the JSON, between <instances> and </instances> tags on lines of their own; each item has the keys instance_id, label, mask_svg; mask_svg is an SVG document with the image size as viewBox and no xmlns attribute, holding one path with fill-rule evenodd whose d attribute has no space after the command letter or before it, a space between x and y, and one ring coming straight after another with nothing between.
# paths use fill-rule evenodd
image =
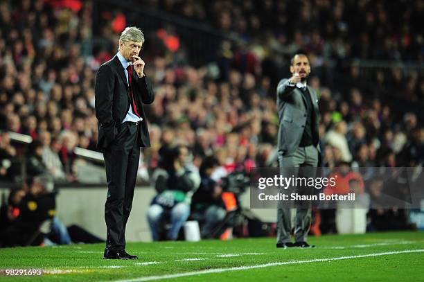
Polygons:
<instances>
[{"instance_id":1,"label":"black trousers of the grey-haired man with red tie","mask_svg":"<svg viewBox=\"0 0 424 282\"><path fill-rule=\"evenodd\" d=\"M117 128L116 139L103 152L103 156L108 188L105 204L106 247L119 251L125 249L125 227L134 197L141 138L140 123L125 122L117 125Z\"/></svg>"}]
</instances>

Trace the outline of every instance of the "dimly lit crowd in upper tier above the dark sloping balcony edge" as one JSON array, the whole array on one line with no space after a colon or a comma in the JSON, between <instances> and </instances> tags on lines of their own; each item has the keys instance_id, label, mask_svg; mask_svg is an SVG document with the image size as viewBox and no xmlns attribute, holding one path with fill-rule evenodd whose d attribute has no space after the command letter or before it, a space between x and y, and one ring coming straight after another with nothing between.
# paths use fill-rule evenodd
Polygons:
<instances>
[{"instance_id":1,"label":"dimly lit crowd in upper tier above the dark sloping balcony edge","mask_svg":"<svg viewBox=\"0 0 424 282\"><path fill-rule=\"evenodd\" d=\"M148 0L145 6L207 22L292 55L423 62L422 1L184 1Z\"/></svg>"}]
</instances>

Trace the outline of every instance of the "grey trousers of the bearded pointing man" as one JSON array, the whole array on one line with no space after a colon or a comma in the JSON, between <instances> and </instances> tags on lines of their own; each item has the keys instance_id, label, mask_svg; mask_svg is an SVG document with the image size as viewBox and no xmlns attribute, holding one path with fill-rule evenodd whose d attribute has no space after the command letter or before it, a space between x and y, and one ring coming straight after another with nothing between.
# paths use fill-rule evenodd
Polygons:
<instances>
[{"instance_id":1,"label":"grey trousers of the bearded pointing man","mask_svg":"<svg viewBox=\"0 0 424 282\"><path fill-rule=\"evenodd\" d=\"M279 152L279 166L284 168L281 173L285 177L315 177L316 170L311 168L301 170L299 167L317 167L319 152L315 146L299 147L290 155ZM303 174L303 175L300 175ZM290 231L292 230L291 209L284 201L279 202L277 209L277 243L290 242ZM311 222L311 204L303 203L296 209L296 220L294 225L294 238L296 242L306 242Z\"/></svg>"}]
</instances>

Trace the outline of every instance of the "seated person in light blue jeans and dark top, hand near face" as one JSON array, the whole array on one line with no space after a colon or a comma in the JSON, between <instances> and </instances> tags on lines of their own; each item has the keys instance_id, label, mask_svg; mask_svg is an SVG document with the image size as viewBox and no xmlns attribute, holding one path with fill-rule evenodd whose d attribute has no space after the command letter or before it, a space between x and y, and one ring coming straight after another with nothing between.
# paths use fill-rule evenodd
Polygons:
<instances>
[{"instance_id":1,"label":"seated person in light blue jeans and dark top, hand near face","mask_svg":"<svg viewBox=\"0 0 424 282\"><path fill-rule=\"evenodd\" d=\"M190 215L191 197L200 184L199 172L191 162L187 146L169 148L167 155L170 166L154 173L158 195L147 211L155 241L163 238L161 235L168 222L171 227L166 233L166 239L177 240L179 229Z\"/></svg>"}]
</instances>

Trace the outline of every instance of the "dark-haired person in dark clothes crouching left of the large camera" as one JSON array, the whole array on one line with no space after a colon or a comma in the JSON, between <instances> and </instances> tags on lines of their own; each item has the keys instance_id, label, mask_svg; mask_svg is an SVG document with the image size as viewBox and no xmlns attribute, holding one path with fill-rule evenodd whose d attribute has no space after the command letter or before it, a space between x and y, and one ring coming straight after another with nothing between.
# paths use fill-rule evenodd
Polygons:
<instances>
[{"instance_id":1,"label":"dark-haired person in dark clothes crouching left of the large camera","mask_svg":"<svg viewBox=\"0 0 424 282\"><path fill-rule=\"evenodd\" d=\"M215 157L206 157L200 165L202 182L193 195L191 209L193 219L202 223L202 238L213 236L213 230L224 220L227 211L222 201L222 187L212 179L211 175L218 168Z\"/></svg>"}]
</instances>

